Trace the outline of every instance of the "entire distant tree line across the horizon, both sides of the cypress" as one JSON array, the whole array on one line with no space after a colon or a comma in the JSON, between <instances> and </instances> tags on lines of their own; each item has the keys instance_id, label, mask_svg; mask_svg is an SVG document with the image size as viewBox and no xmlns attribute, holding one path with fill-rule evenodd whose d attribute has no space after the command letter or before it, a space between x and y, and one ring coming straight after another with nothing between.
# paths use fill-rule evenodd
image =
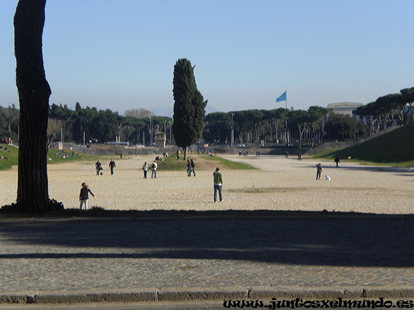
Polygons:
<instances>
[{"instance_id":1,"label":"entire distant tree line across the horizon, both sides of the cypress","mask_svg":"<svg viewBox=\"0 0 414 310\"><path fill-rule=\"evenodd\" d=\"M280 107L275 110L214 112L204 118L204 128L199 138L203 138L206 143L230 145L232 125L235 144L259 145L264 141L265 145L290 143L302 146L322 141L364 138L387 127L413 121L414 87L405 88L397 94L380 96L376 101L358 107L353 114L359 116L360 120L318 106L309 107L308 110L286 110ZM60 141L62 134L63 141L83 143L85 132L87 143L105 143L118 138L131 144L143 144L145 138L145 144L148 145L152 125L152 134L166 132L167 143L170 143L172 123L172 118L154 116L142 108L126 110L125 116L120 116L111 110L83 108L79 103L76 103L75 110L70 110L67 105L52 104L48 141ZM14 105L0 107L1 140L12 138L17 142L18 132L19 110Z\"/></svg>"}]
</instances>

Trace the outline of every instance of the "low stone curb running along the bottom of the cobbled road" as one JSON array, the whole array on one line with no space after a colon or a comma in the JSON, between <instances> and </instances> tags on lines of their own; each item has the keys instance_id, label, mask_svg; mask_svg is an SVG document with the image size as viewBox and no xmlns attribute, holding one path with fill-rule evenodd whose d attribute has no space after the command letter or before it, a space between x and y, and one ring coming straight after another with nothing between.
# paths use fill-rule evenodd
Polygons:
<instances>
[{"instance_id":1,"label":"low stone curb running along the bottom of the cobbled road","mask_svg":"<svg viewBox=\"0 0 414 310\"><path fill-rule=\"evenodd\" d=\"M0 304L79 304L92 302L187 302L218 300L412 300L414 287L168 287L137 291L50 291L40 293L3 293Z\"/></svg>"}]
</instances>

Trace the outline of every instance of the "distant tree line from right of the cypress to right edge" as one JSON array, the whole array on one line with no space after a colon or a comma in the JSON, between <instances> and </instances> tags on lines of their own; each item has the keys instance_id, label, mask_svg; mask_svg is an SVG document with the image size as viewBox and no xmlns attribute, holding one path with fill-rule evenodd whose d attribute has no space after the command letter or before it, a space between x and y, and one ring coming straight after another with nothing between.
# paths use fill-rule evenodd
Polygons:
<instances>
[{"instance_id":1,"label":"distant tree line from right of the cypress to right edge","mask_svg":"<svg viewBox=\"0 0 414 310\"><path fill-rule=\"evenodd\" d=\"M328 108L308 110L244 110L210 113L205 118L203 138L209 143L230 145L232 126L235 144L314 145L324 141L364 138L393 125L405 125L414 118L414 87L399 94L379 97L350 115L336 114ZM233 116L233 119L232 119ZM287 123L287 131L286 131Z\"/></svg>"}]
</instances>

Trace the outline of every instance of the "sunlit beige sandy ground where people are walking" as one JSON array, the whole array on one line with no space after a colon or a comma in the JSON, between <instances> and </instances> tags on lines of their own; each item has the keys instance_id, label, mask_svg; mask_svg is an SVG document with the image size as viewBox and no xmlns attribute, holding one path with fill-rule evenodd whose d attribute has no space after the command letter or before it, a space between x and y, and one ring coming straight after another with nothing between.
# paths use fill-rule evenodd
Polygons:
<instances>
[{"instance_id":1,"label":"sunlit beige sandy ground where people are walking","mask_svg":"<svg viewBox=\"0 0 414 310\"><path fill-rule=\"evenodd\" d=\"M93 163L48 166L49 194L66 208L79 207L81 183L88 183L97 200L89 207L105 209L226 210L271 209L307 211L356 211L376 214L413 214L414 169L371 167L355 163L321 161L321 180L316 181L317 161L283 156L223 156L243 161L257 170L221 169L224 202L213 203L213 169L186 172L157 172L157 179L144 180L141 167L153 156L116 161L112 176L103 162L103 176L96 176ZM331 176L331 181L324 176ZM0 172L0 205L16 200L17 169Z\"/></svg>"}]
</instances>

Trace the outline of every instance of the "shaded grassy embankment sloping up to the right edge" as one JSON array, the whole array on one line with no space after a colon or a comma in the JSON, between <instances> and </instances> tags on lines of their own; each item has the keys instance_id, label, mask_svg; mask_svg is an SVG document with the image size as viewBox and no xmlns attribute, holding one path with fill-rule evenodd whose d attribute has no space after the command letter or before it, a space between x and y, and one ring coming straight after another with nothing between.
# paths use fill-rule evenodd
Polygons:
<instances>
[{"instance_id":1,"label":"shaded grassy embankment sloping up to the right edge","mask_svg":"<svg viewBox=\"0 0 414 310\"><path fill-rule=\"evenodd\" d=\"M328 149L313 154L312 157L332 161L335 156L338 156L341 160L348 160L351 157L351 161L359 163L414 167L413 138L414 123L410 123L364 143L345 149Z\"/></svg>"}]
</instances>

